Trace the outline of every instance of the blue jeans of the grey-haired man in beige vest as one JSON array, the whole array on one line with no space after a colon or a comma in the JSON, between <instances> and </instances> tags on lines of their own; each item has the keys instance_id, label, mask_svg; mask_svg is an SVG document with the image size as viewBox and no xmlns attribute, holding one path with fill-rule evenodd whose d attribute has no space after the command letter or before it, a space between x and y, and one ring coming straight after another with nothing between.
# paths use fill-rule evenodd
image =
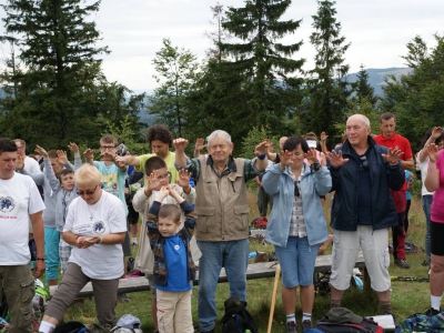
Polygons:
<instances>
[{"instance_id":1,"label":"blue jeans of the grey-haired man in beige vest","mask_svg":"<svg viewBox=\"0 0 444 333\"><path fill-rule=\"evenodd\" d=\"M222 265L230 284L230 296L246 301L246 266L249 265L249 240L228 242L198 241L202 256L199 260L199 324L201 332L214 329L218 317L215 289Z\"/></svg>"}]
</instances>

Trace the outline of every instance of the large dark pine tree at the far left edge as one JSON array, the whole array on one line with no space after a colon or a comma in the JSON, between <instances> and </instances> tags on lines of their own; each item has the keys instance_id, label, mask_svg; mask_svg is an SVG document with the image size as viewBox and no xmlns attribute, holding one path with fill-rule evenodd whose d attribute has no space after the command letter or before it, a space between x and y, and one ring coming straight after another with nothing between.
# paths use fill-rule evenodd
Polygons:
<instances>
[{"instance_id":1,"label":"large dark pine tree at the far left edge","mask_svg":"<svg viewBox=\"0 0 444 333\"><path fill-rule=\"evenodd\" d=\"M41 139L44 134L61 141L85 129L92 114L85 101L84 89L100 73L99 54L108 48L95 47L100 33L95 23L88 21L99 10L100 1L84 6L81 0L8 0L2 4L7 37L19 48L19 58L26 70L9 78L19 81L20 103L13 117L20 122L16 135ZM3 78L4 79L4 78ZM24 95L26 94L26 95ZM84 122L84 123L83 123ZM87 131L88 130L88 131ZM71 138L72 140L72 138Z\"/></svg>"}]
</instances>

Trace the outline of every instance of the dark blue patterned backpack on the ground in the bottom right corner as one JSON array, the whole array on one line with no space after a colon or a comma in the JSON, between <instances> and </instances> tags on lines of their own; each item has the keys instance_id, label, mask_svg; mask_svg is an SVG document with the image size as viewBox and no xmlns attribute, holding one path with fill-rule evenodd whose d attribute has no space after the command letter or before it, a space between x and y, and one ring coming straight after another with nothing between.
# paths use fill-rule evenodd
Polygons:
<instances>
[{"instance_id":1,"label":"dark blue patterned backpack on the ground in the bottom right corner","mask_svg":"<svg viewBox=\"0 0 444 333\"><path fill-rule=\"evenodd\" d=\"M428 316L426 314L416 313L400 323L396 333L407 332L444 332L444 312Z\"/></svg>"}]
</instances>

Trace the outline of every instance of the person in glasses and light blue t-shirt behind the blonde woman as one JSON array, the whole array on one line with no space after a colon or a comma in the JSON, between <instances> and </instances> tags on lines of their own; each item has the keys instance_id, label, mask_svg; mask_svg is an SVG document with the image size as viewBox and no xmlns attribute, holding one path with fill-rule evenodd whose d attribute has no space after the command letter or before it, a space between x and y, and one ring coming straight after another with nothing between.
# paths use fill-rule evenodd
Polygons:
<instances>
[{"instance_id":1,"label":"person in glasses and light blue t-shirt behind the blonde woman","mask_svg":"<svg viewBox=\"0 0 444 333\"><path fill-rule=\"evenodd\" d=\"M110 194L113 194L120 199L124 206L125 215L128 215L128 206L125 201L124 188L127 179L127 164L119 160L118 157L119 142L114 135L108 134L100 139L100 158L101 161L94 161L94 150L87 149L83 153L84 160L91 165L95 165L97 169L102 173L102 190ZM120 154L127 153L119 151ZM127 256L131 256L131 244L128 232L122 243L123 249L123 262ZM124 265L125 268L127 265ZM122 279L124 278L124 270L122 272ZM127 294L120 294L119 301L130 302L131 300Z\"/></svg>"}]
</instances>

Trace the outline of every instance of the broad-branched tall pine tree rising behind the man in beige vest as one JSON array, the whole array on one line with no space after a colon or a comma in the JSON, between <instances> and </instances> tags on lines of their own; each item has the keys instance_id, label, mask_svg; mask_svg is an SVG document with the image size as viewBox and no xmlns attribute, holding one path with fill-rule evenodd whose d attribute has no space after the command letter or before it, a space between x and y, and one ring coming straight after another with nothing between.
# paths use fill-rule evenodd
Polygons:
<instances>
[{"instance_id":1,"label":"broad-branched tall pine tree rising behind the man in beige vest","mask_svg":"<svg viewBox=\"0 0 444 333\"><path fill-rule=\"evenodd\" d=\"M242 91L250 127L269 124L279 128L281 119L297 104L301 80L295 73L304 60L291 57L302 44L283 44L280 39L294 33L301 21L282 21L290 0L250 0L242 8L230 7L222 27L240 39L238 43L220 44L233 61L222 61L224 72L244 78ZM235 104L232 105L235 108ZM245 134L245 133L244 133Z\"/></svg>"}]
</instances>

